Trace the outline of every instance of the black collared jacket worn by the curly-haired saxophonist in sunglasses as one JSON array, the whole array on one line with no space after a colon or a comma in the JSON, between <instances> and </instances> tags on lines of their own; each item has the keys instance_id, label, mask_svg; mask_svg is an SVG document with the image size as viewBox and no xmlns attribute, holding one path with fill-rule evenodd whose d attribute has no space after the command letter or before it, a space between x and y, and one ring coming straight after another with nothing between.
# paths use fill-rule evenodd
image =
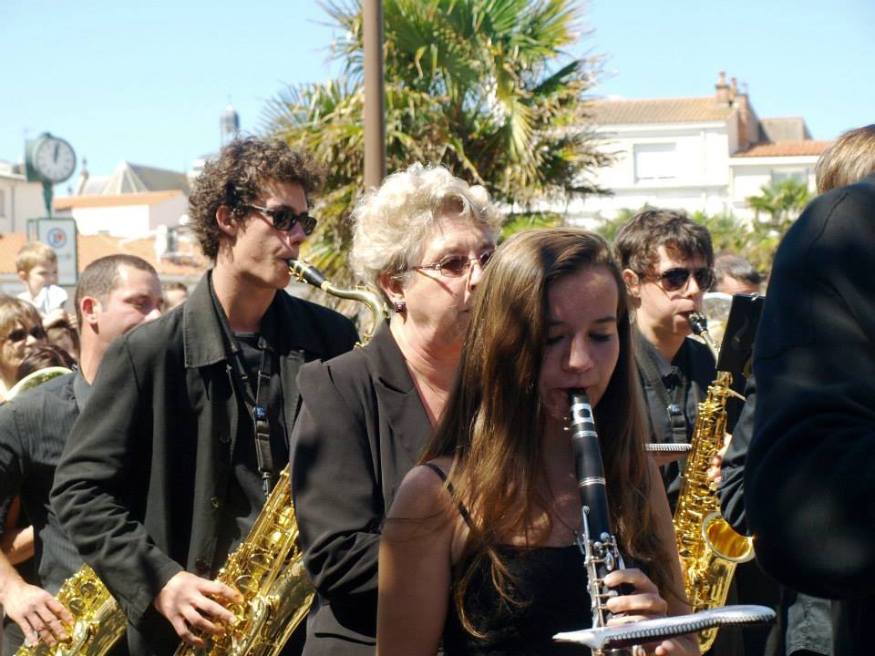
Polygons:
<instances>
[{"instance_id":1,"label":"black collared jacket worn by the curly-haired saxophonist in sunglasses","mask_svg":"<svg viewBox=\"0 0 875 656\"><path fill-rule=\"evenodd\" d=\"M285 292L267 313L282 326L273 347L292 426L299 365L345 352L355 328ZM57 466L52 504L127 614L132 653L173 651L178 639L152 600L180 570L211 578L227 556L216 552L218 528L248 419L227 363L204 276L179 309L110 344Z\"/></svg>"}]
</instances>

